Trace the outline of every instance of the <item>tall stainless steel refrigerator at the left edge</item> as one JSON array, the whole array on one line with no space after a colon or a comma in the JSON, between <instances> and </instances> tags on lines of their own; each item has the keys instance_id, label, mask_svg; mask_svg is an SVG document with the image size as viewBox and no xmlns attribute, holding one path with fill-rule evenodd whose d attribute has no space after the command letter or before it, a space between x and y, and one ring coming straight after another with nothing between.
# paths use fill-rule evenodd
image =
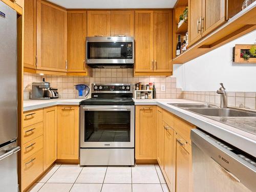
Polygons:
<instances>
[{"instance_id":1,"label":"tall stainless steel refrigerator at the left edge","mask_svg":"<svg viewBox=\"0 0 256 192\"><path fill-rule=\"evenodd\" d=\"M0 1L0 191L18 191L17 13Z\"/></svg>"}]
</instances>

